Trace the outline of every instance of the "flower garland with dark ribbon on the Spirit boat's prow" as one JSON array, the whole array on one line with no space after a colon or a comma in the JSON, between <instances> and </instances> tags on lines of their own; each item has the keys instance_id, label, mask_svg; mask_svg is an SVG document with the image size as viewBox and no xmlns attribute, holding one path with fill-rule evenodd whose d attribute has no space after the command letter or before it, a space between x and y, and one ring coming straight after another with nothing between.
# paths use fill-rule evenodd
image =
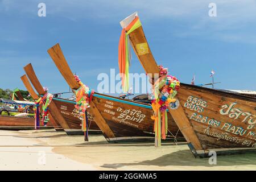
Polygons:
<instances>
[{"instance_id":1,"label":"flower garland with dark ribbon on the Spirit boat's prow","mask_svg":"<svg viewBox=\"0 0 256 182\"><path fill-rule=\"evenodd\" d=\"M76 81L79 83L80 88L75 91L76 93L76 105L77 113L79 113L79 119L82 121L82 131L84 131L85 141L88 141L88 118L86 109L90 107L89 102L92 100L94 90L91 90L88 86L84 85L79 76L74 75Z\"/></svg>"}]
</instances>

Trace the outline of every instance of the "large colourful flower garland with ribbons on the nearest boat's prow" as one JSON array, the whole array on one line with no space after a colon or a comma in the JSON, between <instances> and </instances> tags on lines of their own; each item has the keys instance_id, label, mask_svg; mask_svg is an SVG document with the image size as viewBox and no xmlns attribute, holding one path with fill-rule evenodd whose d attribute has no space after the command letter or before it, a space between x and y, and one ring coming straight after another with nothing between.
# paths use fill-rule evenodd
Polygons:
<instances>
[{"instance_id":1,"label":"large colourful flower garland with ribbons on the nearest boat's prow","mask_svg":"<svg viewBox=\"0 0 256 182\"><path fill-rule=\"evenodd\" d=\"M168 69L158 66L160 77L153 86L154 100L152 100L152 109L154 115L151 119L155 120L155 146L161 146L161 138L166 139L168 129L167 109L170 104L174 103L174 98L180 88L180 82L176 77L167 75Z\"/></svg>"}]
</instances>

